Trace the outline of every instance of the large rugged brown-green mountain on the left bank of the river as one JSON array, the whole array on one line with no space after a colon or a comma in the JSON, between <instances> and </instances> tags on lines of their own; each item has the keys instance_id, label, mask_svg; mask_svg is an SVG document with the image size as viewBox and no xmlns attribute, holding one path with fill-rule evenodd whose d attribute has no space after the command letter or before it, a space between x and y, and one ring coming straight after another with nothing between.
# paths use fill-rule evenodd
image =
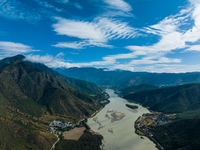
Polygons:
<instances>
[{"instance_id":1,"label":"large rugged brown-green mountain on the left bank of the river","mask_svg":"<svg viewBox=\"0 0 200 150\"><path fill-rule=\"evenodd\" d=\"M23 59L17 55L0 61L0 146L49 149L56 141L46 132L49 121L91 116L100 109L97 99L104 94L93 83L66 78Z\"/></svg>"}]
</instances>

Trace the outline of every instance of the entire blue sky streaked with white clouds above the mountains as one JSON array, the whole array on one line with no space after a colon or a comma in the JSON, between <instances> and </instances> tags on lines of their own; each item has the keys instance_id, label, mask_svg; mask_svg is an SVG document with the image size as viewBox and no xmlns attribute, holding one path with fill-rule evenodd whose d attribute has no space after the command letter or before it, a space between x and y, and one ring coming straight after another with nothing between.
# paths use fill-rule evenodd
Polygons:
<instances>
[{"instance_id":1,"label":"entire blue sky streaked with white clouds above the mountains","mask_svg":"<svg viewBox=\"0 0 200 150\"><path fill-rule=\"evenodd\" d=\"M200 0L0 0L0 59L200 71Z\"/></svg>"}]
</instances>

